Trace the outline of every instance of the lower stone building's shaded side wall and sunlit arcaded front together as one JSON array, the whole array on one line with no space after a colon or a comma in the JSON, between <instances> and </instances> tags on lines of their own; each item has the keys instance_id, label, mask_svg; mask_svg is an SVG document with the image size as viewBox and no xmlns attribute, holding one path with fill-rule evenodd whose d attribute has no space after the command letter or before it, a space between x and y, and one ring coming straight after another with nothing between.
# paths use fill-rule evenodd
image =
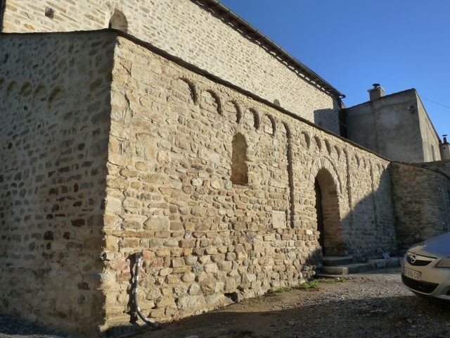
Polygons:
<instances>
[{"instance_id":1,"label":"lower stone building's shaded side wall and sunlit arcaded front together","mask_svg":"<svg viewBox=\"0 0 450 338\"><path fill-rule=\"evenodd\" d=\"M2 35L0 311L97 337L395 249L388 161L116 32Z\"/></svg>"}]
</instances>

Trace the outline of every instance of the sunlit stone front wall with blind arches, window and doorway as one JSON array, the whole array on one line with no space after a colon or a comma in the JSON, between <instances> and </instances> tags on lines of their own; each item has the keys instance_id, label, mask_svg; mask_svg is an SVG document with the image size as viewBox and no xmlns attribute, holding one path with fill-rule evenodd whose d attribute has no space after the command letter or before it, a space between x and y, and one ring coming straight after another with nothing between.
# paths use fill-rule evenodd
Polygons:
<instances>
[{"instance_id":1,"label":"sunlit stone front wall with blind arches, window and doorway","mask_svg":"<svg viewBox=\"0 0 450 338\"><path fill-rule=\"evenodd\" d=\"M326 250L364 260L395 249L387 161L224 84L119 38L106 326L129 319L136 251L141 308L157 320L310 277L321 256L316 177L328 204ZM236 139L245 144L233 150ZM231 182L232 168L245 167L236 158L245 158L248 184Z\"/></svg>"}]
</instances>

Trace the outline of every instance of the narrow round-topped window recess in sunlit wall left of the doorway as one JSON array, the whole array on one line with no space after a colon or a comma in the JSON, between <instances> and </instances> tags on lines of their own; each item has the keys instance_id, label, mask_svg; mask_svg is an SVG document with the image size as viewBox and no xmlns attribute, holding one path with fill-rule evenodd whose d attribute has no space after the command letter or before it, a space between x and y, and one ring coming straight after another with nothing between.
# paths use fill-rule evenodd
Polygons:
<instances>
[{"instance_id":1,"label":"narrow round-topped window recess in sunlit wall left of the doorway","mask_svg":"<svg viewBox=\"0 0 450 338\"><path fill-rule=\"evenodd\" d=\"M231 143L231 176L230 180L233 184L248 184L248 157L247 157L247 141L243 134L235 134Z\"/></svg>"}]
</instances>

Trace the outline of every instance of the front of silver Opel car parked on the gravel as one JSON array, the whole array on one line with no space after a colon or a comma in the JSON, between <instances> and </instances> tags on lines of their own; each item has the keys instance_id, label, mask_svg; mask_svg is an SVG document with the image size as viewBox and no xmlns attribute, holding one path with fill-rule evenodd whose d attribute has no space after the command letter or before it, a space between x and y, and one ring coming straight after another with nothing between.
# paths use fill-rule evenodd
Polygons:
<instances>
[{"instance_id":1,"label":"front of silver Opel car parked on the gravel","mask_svg":"<svg viewBox=\"0 0 450 338\"><path fill-rule=\"evenodd\" d=\"M411 246L401 281L416 294L450 301L450 232Z\"/></svg>"}]
</instances>

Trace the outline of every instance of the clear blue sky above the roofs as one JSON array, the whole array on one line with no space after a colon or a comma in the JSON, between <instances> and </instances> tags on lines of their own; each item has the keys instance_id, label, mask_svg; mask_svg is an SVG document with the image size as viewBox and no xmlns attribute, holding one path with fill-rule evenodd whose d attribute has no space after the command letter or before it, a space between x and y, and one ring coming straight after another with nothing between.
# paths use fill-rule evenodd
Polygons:
<instances>
[{"instance_id":1,"label":"clear blue sky above the roofs","mask_svg":"<svg viewBox=\"0 0 450 338\"><path fill-rule=\"evenodd\" d=\"M416 88L450 134L450 0L221 0L347 97ZM444 108L431 101L447 106Z\"/></svg>"}]
</instances>

